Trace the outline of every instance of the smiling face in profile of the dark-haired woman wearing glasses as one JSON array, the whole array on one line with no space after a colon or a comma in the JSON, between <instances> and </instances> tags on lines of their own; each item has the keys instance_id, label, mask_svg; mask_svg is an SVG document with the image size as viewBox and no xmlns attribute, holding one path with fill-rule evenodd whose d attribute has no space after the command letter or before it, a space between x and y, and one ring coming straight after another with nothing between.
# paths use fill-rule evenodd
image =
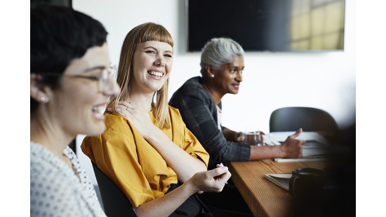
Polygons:
<instances>
[{"instance_id":1,"label":"smiling face in profile of the dark-haired woman wearing glasses","mask_svg":"<svg viewBox=\"0 0 386 217\"><path fill-rule=\"evenodd\" d=\"M95 76L110 65L107 44L87 49L81 57L71 61L64 75ZM63 76L59 88L52 91L47 110L68 135L98 135L105 130L103 111L110 96L120 89L110 77L101 92L97 82L86 78Z\"/></svg>"}]
</instances>

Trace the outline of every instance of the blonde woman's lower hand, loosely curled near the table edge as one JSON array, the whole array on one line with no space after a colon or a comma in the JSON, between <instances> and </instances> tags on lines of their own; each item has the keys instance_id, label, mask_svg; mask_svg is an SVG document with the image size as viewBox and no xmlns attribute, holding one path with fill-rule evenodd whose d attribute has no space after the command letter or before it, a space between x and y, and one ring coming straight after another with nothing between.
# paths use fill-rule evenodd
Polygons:
<instances>
[{"instance_id":1,"label":"blonde woman's lower hand, loosely curled near the table edge","mask_svg":"<svg viewBox=\"0 0 386 217\"><path fill-rule=\"evenodd\" d=\"M187 182L192 186L194 192L221 192L230 177L228 167L217 164L216 169L198 172Z\"/></svg>"}]
</instances>

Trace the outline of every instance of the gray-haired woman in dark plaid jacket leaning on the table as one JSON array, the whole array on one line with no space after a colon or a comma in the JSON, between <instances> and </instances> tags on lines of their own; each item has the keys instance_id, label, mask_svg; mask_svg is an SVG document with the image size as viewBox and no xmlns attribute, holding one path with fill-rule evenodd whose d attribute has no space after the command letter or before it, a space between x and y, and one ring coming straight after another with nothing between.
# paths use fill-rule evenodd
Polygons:
<instances>
[{"instance_id":1,"label":"gray-haired woman in dark plaid jacket leaning on the table","mask_svg":"<svg viewBox=\"0 0 386 217\"><path fill-rule=\"evenodd\" d=\"M171 97L186 127L210 155L208 169L221 162L261 160L274 157L300 158L306 143L296 140L302 129L279 146L241 143L243 133L221 126L221 98L237 94L244 69L244 50L229 38L213 38L201 55L202 77L187 80ZM264 143L263 143L264 144Z\"/></svg>"}]
</instances>

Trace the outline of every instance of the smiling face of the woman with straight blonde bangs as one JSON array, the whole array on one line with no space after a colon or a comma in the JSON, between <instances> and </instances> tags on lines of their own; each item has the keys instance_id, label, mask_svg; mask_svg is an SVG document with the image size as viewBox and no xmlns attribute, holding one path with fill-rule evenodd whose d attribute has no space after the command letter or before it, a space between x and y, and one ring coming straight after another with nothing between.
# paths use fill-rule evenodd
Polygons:
<instances>
[{"instance_id":1,"label":"smiling face of the woman with straight blonde bangs","mask_svg":"<svg viewBox=\"0 0 386 217\"><path fill-rule=\"evenodd\" d=\"M173 48L164 42L147 41L138 45L133 56L131 91L154 93L170 75Z\"/></svg>"}]
</instances>

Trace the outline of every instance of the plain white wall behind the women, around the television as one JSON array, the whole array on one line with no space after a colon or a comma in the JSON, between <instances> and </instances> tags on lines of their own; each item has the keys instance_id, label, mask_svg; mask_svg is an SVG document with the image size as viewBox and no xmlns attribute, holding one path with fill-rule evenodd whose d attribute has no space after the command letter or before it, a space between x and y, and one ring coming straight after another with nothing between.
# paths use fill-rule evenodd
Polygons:
<instances>
[{"instance_id":1,"label":"plain white wall behind the women, around the television","mask_svg":"<svg viewBox=\"0 0 386 217\"><path fill-rule=\"evenodd\" d=\"M145 22L163 25L174 40L169 96L188 78L200 75L200 53L184 52L185 1L73 0L72 4L105 26L112 64L118 65L122 42L132 28ZM223 126L243 131L251 122L268 133L274 110L306 106L321 108L339 128L347 127L355 121L355 49L355 1L347 0L343 52L247 52L239 93L222 100ZM86 156L77 154L89 164Z\"/></svg>"}]
</instances>

